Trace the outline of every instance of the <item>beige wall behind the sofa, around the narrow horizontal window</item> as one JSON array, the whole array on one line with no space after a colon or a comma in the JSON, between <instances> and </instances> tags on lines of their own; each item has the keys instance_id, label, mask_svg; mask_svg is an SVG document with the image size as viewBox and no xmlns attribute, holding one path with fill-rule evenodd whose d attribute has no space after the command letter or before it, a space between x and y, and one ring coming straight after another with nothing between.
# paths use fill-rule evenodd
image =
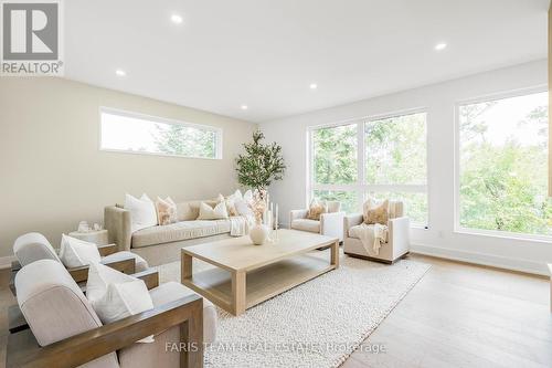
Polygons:
<instances>
[{"instance_id":1,"label":"beige wall behind the sofa, around the narrow horizontal window","mask_svg":"<svg viewBox=\"0 0 552 368\"><path fill-rule=\"evenodd\" d=\"M221 127L223 159L99 151L99 107ZM234 159L256 124L47 77L0 78L0 257L40 231L57 246L78 221L103 222L125 192L174 200L235 190ZM1 263L0 259L0 263ZM3 259L7 261L7 259Z\"/></svg>"}]
</instances>

